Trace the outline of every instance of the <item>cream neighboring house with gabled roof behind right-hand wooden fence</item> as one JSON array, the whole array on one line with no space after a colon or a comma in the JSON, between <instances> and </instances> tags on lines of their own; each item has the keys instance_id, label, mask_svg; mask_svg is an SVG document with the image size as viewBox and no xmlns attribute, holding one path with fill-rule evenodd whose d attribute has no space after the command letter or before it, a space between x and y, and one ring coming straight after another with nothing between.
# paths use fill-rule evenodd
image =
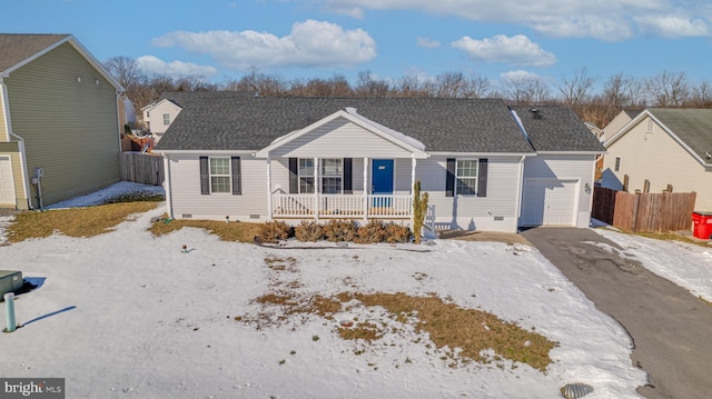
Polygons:
<instances>
[{"instance_id":1,"label":"cream neighboring house with gabled roof behind right-hand wooden fence","mask_svg":"<svg viewBox=\"0 0 712 399\"><path fill-rule=\"evenodd\" d=\"M712 211L711 109L646 109L604 144L603 187L695 191L695 210Z\"/></svg>"}]
</instances>

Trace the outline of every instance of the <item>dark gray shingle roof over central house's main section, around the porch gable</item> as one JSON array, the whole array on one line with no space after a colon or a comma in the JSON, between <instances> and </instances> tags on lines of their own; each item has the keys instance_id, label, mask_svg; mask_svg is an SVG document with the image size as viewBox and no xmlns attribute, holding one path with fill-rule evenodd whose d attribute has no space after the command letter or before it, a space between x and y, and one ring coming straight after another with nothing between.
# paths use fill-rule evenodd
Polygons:
<instances>
[{"instance_id":1,"label":"dark gray shingle roof over central house's main section, around the porch gable","mask_svg":"<svg viewBox=\"0 0 712 399\"><path fill-rule=\"evenodd\" d=\"M533 152L496 99L224 96L188 100L156 150L259 150L347 107L422 141L428 152ZM575 123L585 129L581 120Z\"/></svg>"}]
</instances>

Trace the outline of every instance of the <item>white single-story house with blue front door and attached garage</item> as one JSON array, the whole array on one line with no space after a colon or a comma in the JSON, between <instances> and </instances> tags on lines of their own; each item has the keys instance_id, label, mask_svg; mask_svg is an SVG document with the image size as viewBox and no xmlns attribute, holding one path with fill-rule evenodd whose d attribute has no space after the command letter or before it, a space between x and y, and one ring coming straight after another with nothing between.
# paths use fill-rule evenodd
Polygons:
<instances>
[{"instance_id":1,"label":"white single-story house with blue front door and attached garage","mask_svg":"<svg viewBox=\"0 0 712 399\"><path fill-rule=\"evenodd\" d=\"M155 149L176 219L409 222L416 180L439 229L587 227L604 149L564 107L496 99L204 98Z\"/></svg>"}]
</instances>

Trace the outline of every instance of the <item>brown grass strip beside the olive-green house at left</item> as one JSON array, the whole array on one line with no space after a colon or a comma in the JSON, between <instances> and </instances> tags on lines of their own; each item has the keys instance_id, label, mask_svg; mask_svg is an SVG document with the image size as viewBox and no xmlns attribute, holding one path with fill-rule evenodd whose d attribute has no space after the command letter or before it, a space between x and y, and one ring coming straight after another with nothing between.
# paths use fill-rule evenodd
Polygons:
<instances>
[{"instance_id":1,"label":"brown grass strip beside the olive-green house at left","mask_svg":"<svg viewBox=\"0 0 712 399\"><path fill-rule=\"evenodd\" d=\"M70 237L93 237L110 232L129 216L144 213L157 206L158 202L139 201L52 209L43 212L27 211L18 213L6 230L10 242L46 238L55 232Z\"/></svg>"}]
</instances>

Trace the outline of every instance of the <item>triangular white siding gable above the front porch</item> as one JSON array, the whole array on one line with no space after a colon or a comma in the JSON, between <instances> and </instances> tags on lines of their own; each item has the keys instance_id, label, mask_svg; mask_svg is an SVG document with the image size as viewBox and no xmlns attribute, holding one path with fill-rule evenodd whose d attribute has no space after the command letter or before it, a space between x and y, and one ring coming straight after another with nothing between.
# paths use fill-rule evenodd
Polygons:
<instances>
[{"instance_id":1,"label":"triangular white siding gable above the front porch","mask_svg":"<svg viewBox=\"0 0 712 399\"><path fill-rule=\"evenodd\" d=\"M411 158L411 152L379 136L338 118L294 139L271 153L273 158Z\"/></svg>"}]
</instances>

